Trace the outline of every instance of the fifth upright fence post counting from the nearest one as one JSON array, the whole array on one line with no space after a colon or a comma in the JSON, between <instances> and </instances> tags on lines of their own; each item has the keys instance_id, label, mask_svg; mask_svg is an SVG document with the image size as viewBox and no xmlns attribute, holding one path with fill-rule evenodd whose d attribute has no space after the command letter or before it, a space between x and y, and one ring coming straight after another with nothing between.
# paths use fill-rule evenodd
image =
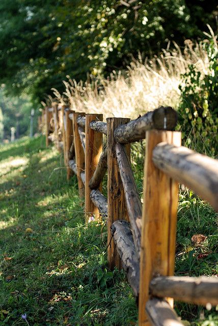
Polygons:
<instances>
[{"instance_id":1,"label":"fifth upright fence post counting from the nearest one","mask_svg":"<svg viewBox=\"0 0 218 326\"><path fill-rule=\"evenodd\" d=\"M73 144L73 124L69 119L70 109L66 108L65 117L66 117L66 161L67 161L67 180L72 176L72 170L69 167L69 157L70 157L70 148Z\"/></svg>"}]
</instances>

